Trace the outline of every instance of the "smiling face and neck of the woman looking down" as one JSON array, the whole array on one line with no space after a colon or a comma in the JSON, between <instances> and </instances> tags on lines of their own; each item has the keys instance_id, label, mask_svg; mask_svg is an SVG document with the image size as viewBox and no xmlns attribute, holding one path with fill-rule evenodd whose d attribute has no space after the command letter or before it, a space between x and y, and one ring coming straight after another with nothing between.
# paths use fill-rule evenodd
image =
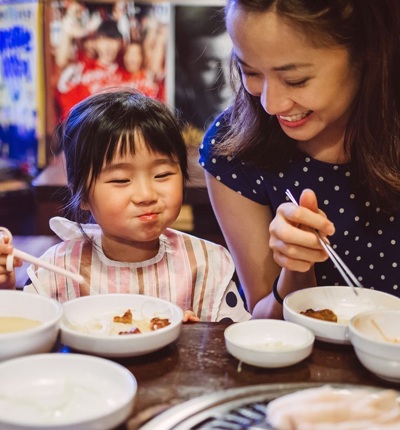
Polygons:
<instances>
[{"instance_id":1,"label":"smiling face and neck of the woman looking down","mask_svg":"<svg viewBox=\"0 0 400 430\"><path fill-rule=\"evenodd\" d=\"M348 50L317 47L273 11L231 8L227 29L245 89L283 131L312 156L342 148L360 84Z\"/></svg>"}]
</instances>

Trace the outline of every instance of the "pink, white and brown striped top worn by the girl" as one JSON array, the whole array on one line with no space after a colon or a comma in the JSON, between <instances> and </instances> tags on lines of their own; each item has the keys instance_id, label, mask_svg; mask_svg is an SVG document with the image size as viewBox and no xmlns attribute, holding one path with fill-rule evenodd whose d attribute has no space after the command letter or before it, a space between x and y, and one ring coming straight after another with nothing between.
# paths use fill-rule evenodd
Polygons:
<instances>
[{"instance_id":1,"label":"pink, white and brown striped top worn by the girl","mask_svg":"<svg viewBox=\"0 0 400 430\"><path fill-rule=\"evenodd\" d=\"M85 282L78 284L31 265L28 268L31 284L24 291L44 294L60 302L89 294L145 294L176 303L183 310L193 310L201 321L251 318L232 281L232 258L220 245L167 229L160 236L155 257L128 263L104 255L97 224L83 225L93 242L85 240L78 224L65 218L52 218L50 227L62 242L47 250L41 259L80 273Z\"/></svg>"}]
</instances>

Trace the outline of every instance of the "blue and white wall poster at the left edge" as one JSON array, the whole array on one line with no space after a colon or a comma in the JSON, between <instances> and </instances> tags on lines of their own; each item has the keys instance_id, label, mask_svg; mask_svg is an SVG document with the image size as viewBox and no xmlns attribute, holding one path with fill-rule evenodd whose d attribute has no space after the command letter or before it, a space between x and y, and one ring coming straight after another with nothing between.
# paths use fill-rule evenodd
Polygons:
<instances>
[{"instance_id":1,"label":"blue and white wall poster at the left edge","mask_svg":"<svg viewBox=\"0 0 400 430\"><path fill-rule=\"evenodd\" d=\"M37 0L0 0L0 159L31 176L44 139L41 19Z\"/></svg>"}]
</instances>

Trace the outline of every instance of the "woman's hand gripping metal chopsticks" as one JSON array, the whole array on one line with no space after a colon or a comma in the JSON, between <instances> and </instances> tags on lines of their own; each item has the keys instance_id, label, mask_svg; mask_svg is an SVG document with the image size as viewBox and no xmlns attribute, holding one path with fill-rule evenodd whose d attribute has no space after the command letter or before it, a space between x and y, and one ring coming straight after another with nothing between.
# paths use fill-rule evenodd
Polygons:
<instances>
[{"instance_id":1,"label":"woman's hand gripping metal chopsticks","mask_svg":"<svg viewBox=\"0 0 400 430\"><path fill-rule=\"evenodd\" d=\"M281 267L297 272L306 272L315 263L325 261L328 255L313 229L322 236L335 232L332 222L318 209L315 193L304 190L299 206L281 204L270 224L269 244L275 261Z\"/></svg>"}]
</instances>

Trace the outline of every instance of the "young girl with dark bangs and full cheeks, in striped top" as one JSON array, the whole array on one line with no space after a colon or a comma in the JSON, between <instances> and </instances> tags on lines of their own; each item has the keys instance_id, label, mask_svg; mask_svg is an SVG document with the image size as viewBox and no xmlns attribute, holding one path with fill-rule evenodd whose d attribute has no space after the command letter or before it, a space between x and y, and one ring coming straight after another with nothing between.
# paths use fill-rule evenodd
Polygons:
<instances>
[{"instance_id":1,"label":"young girl with dark bangs and full cheeks, in striped top","mask_svg":"<svg viewBox=\"0 0 400 430\"><path fill-rule=\"evenodd\" d=\"M186 319L250 318L226 249L169 228L181 209L187 158L165 104L127 90L99 93L71 110L59 135L73 221L50 221L63 241L41 258L85 282L31 266L25 291L45 291L60 302L139 293L176 303L190 311ZM11 251L0 245L2 287L13 286L14 273L5 270Z\"/></svg>"}]
</instances>

